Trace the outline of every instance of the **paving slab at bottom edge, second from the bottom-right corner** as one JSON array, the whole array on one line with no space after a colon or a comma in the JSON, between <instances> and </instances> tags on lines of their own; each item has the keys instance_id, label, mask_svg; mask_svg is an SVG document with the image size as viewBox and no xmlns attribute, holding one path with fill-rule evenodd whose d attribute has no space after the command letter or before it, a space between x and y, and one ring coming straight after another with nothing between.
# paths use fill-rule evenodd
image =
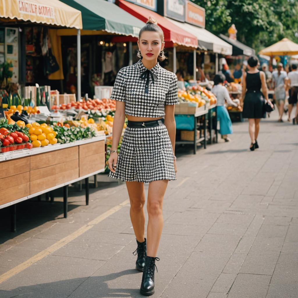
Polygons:
<instances>
[{"instance_id":1,"label":"paving slab at bottom edge, second from the bottom-right corner","mask_svg":"<svg viewBox=\"0 0 298 298\"><path fill-rule=\"evenodd\" d=\"M271 276L238 274L228 298L265 298Z\"/></svg>"}]
</instances>

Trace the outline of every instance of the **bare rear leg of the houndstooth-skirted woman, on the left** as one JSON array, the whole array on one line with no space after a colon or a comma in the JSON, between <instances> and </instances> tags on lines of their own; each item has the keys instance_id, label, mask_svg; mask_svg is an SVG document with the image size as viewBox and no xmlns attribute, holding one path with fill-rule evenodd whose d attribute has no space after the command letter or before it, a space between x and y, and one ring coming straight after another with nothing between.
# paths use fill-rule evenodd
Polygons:
<instances>
[{"instance_id":1,"label":"bare rear leg of the houndstooth-skirted woman, on the left","mask_svg":"<svg viewBox=\"0 0 298 298\"><path fill-rule=\"evenodd\" d=\"M145 191L144 183L136 181L126 181L129 200L131 204L130 217L134 228L136 240L139 242L145 241Z\"/></svg>"}]
</instances>

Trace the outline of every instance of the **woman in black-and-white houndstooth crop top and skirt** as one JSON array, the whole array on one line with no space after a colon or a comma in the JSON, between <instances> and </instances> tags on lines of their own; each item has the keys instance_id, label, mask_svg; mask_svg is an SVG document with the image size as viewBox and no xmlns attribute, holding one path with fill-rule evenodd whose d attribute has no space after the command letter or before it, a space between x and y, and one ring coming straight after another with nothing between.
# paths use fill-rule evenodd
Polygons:
<instances>
[{"instance_id":1,"label":"woman in black-and-white houndstooth crop top and skirt","mask_svg":"<svg viewBox=\"0 0 298 298\"><path fill-rule=\"evenodd\" d=\"M162 203L169 180L176 180L174 107L178 103L177 77L163 69L164 34L149 17L139 32L140 60L117 74L111 99L116 100L109 176L126 181L130 217L136 235L136 269L143 271L141 294L154 294L154 271L162 235ZM128 126L117 155L127 115ZM148 226L145 238L145 191L148 189Z\"/></svg>"}]
</instances>

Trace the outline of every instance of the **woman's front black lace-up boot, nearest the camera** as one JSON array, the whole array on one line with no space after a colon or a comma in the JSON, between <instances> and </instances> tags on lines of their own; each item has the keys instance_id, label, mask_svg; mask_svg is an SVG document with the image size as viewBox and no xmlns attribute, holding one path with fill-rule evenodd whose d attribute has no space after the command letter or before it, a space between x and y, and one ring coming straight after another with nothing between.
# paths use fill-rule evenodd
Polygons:
<instances>
[{"instance_id":1,"label":"woman's front black lace-up boot, nearest the camera","mask_svg":"<svg viewBox=\"0 0 298 298\"><path fill-rule=\"evenodd\" d=\"M155 260L159 261L157 257L146 257L145 267L143 270L143 277L141 283L141 294L150 296L154 294L154 271L155 271ZM157 267L156 267L157 272Z\"/></svg>"}]
</instances>

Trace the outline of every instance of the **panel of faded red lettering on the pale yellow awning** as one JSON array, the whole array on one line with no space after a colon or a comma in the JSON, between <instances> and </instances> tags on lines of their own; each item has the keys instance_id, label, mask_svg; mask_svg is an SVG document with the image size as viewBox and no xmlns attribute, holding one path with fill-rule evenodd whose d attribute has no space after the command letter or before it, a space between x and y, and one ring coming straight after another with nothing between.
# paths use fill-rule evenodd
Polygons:
<instances>
[{"instance_id":1,"label":"panel of faded red lettering on the pale yellow awning","mask_svg":"<svg viewBox=\"0 0 298 298\"><path fill-rule=\"evenodd\" d=\"M18 9L20 13L26 13L28 15L38 15L41 17L53 19L55 18L54 8L45 4L19 0Z\"/></svg>"}]
</instances>

